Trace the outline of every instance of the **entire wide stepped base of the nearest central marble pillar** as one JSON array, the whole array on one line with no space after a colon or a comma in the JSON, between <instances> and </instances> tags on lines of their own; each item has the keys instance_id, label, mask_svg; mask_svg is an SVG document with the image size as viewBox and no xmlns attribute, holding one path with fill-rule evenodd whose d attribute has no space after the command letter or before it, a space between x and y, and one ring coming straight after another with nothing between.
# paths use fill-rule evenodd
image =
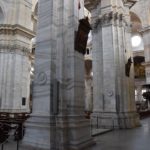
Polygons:
<instances>
[{"instance_id":1,"label":"entire wide stepped base of the nearest central marble pillar","mask_svg":"<svg viewBox=\"0 0 150 150\"><path fill-rule=\"evenodd\" d=\"M25 126L21 150L83 150L95 144L90 120L82 116L32 115Z\"/></svg>"}]
</instances>

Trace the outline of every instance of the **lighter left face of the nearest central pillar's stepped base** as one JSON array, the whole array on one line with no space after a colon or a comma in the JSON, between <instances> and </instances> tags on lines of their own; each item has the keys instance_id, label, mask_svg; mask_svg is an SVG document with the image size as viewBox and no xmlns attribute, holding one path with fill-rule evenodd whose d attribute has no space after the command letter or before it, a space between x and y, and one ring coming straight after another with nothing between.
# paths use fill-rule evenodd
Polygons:
<instances>
[{"instance_id":1,"label":"lighter left face of the nearest central pillar's stepped base","mask_svg":"<svg viewBox=\"0 0 150 150\"><path fill-rule=\"evenodd\" d=\"M54 117L31 115L25 123L25 136L22 148L33 150L50 150L55 147L55 122Z\"/></svg>"}]
</instances>

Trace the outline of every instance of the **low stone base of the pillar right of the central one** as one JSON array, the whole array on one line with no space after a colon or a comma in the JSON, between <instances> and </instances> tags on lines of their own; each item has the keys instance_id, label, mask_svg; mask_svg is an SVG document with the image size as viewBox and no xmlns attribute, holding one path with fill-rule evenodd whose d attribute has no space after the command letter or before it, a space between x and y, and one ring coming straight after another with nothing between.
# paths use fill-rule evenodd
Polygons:
<instances>
[{"instance_id":1,"label":"low stone base of the pillar right of the central one","mask_svg":"<svg viewBox=\"0 0 150 150\"><path fill-rule=\"evenodd\" d=\"M129 129L140 126L139 115L136 112L94 112L92 128Z\"/></svg>"}]
</instances>

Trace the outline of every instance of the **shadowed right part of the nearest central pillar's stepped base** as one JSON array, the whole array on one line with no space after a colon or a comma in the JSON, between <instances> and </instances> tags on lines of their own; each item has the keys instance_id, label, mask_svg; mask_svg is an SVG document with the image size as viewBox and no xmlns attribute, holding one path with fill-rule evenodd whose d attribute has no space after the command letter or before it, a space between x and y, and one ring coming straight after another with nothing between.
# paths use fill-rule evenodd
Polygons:
<instances>
[{"instance_id":1,"label":"shadowed right part of the nearest central pillar's stepped base","mask_svg":"<svg viewBox=\"0 0 150 150\"><path fill-rule=\"evenodd\" d=\"M89 119L78 115L68 115L66 118L57 117L58 150L83 150L95 144Z\"/></svg>"}]
</instances>

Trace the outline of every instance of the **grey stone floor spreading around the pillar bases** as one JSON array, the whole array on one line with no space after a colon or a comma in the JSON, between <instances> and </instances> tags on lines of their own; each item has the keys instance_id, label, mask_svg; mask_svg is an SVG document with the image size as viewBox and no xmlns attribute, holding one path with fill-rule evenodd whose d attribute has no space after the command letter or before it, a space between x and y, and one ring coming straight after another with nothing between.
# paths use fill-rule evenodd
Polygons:
<instances>
[{"instance_id":1,"label":"grey stone floor spreading around the pillar bases","mask_svg":"<svg viewBox=\"0 0 150 150\"><path fill-rule=\"evenodd\" d=\"M86 150L149 150L150 118L142 120L141 124L136 129L116 130L95 136L97 144ZM3 150L17 150L16 146L15 142L8 142Z\"/></svg>"}]
</instances>

